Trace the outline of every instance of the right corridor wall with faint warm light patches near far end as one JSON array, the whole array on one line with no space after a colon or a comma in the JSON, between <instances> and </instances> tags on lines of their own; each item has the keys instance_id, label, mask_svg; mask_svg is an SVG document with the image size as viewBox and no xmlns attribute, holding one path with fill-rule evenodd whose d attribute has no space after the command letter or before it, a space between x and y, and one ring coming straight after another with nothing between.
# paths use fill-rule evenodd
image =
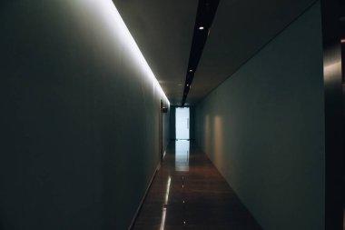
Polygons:
<instances>
[{"instance_id":1,"label":"right corridor wall with faint warm light patches near far end","mask_svg":"<svg viewBox=\"0 0 345 230\"><path fill-rule=\"evenodd\" d=\"M196 106L197 142L265 230L324 229L320 4Z\"/></svg>"}]
</instances>

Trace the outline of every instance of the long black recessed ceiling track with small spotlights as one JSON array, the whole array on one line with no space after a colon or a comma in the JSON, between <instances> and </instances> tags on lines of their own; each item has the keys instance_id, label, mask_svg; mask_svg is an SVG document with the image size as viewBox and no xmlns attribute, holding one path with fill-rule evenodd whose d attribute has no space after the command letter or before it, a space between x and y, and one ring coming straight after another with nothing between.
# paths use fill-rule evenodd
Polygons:
<instances>
[{"instance_id":1,"label":"long black recessed ceiling track with small spotlights","mask_svg":"<svg viewBox=\"0 0 345 230\"><path fill-rule=\"evenodd\" d=\"M194 32L192 35L191 53L182 95L182 106L184 106L191 88L192 79L194 78L194 73L202 57L202 50L210 34L210 28L218 5L219 0L199 0Z\"/></svg>"}]
</instances>

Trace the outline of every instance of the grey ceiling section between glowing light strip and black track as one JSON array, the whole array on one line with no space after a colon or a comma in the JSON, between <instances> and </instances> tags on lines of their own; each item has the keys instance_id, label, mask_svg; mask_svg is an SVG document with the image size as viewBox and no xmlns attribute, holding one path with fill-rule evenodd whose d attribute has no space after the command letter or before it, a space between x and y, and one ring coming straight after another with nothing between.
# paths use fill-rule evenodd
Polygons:
<instances>
[{"instance_id":1,"label":"grey ceiling section between glowing light strip and black track","mask_svg":"<svg viewBox=\"0 0 345 230\"><path fill-rule=\"evenodd\" d=\"M113 0L172 105L181 105L198 0Z\"/></svg>"}]
</instances>

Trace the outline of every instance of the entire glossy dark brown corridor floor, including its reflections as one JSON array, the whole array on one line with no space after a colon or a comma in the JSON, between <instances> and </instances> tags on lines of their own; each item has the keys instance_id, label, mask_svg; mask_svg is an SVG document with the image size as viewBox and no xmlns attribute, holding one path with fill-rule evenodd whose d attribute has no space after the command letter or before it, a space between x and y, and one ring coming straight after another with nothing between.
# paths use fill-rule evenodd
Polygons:
<instances>
[{"instance_id":1,"label":"entire glossy dark brown corridor floor, including its reflections","mask_svg":"<svg viewBox=\"0 0 345 230\"><path fill-rule=\"evenodd\" d=\"M168 147L133 229L261 227L211 161L189 141L176 141Z\"/></svg>"}]
</instances>

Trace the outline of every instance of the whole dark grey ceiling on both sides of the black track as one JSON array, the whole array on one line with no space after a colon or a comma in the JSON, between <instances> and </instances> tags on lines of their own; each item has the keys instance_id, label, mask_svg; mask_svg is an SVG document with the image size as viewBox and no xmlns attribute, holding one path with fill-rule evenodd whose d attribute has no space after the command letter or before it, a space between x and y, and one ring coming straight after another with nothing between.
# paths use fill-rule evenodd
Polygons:
<instances>
[{"instance_id":1,"label":"whole dark grey ceiling on both sides of the black track","mask_svg":"<svg viewBox=\"0 0 345 230\"><path fill-rule=\"evenodd\" d=\"M171 105L181 105L198 0L113 0ZM230 77L315 0L221 0L186 105Z\"/></svg>"}]
</instances>

